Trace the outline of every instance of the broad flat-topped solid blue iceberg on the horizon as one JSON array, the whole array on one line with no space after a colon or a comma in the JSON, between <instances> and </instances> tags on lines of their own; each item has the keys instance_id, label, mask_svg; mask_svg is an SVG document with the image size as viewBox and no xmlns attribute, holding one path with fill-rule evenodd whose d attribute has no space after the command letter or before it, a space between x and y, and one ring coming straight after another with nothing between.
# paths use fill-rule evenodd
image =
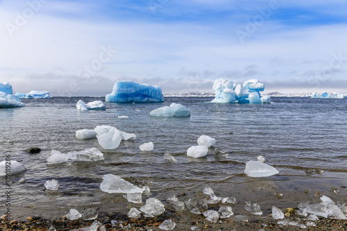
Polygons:
<instances>
[{"instance_id":1,"label":"broad flat-topped solid blue iceberg on the horizon","mask_svg":"<svg viewBox=\"0 0 347 231\"><path fill-rule=\"evenodd\" d=\"M112 93L106 95L109 103L154 103L164 102L162 88L133 81L117 81Z\"/></svg>"}]
</instances>

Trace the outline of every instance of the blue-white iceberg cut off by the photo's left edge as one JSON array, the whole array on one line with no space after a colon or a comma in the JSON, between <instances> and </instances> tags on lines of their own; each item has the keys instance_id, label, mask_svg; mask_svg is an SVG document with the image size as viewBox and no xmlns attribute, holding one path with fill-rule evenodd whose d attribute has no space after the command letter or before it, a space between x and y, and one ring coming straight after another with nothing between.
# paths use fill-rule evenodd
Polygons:
<instances>
[{"instance_id":1,"label":"blue-white iceberg cut off by the photo's left edge","mask_svg":"<svg viewBox=\"0 0 347 231\"><path fill-rule=\"evenodd\" d=\"M14 96L10 83L0 83L0 108L23 107L22 100Z\"/></svg>"}]
</instances>

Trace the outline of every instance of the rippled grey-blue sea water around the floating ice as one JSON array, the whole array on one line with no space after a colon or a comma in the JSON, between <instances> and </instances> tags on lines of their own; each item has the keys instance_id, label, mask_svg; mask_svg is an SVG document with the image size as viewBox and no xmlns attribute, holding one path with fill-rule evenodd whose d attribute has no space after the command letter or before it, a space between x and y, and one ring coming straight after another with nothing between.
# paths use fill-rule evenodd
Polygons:
<instances>
[{"instance_id":1,"label":"rippled grey-blue sea water around the floating ice","mask_svg":"<svg viewBox=\"0 0 347 231\"><path fill-rule=\"evenodd\" d=\"M107 110L79 112L76 103L104 97L53 97L24 99L24 108L0 109L1 161L10 154L26 173L12 176L12 219L43 216L56 219L69 209L98 208L126 214L130 207L122 194L100 190L103 175L113 173L134 185L148 185L151 197L179 200L201 196L209 186L217 196L235 196L235 214L248 214L246 200L258 203L264 216L271 207L296 207L303 200L319 202L329 196L347 203L347 99L273 97L271 104L206 103L212 97L167 97L164 103L105 103ZM149 112L171 103L181 103L192 112L185 118L149 117ZM118 119L126 115L128 119ZM135 133L135 141L121 142L114 151L103 150L96 139L77 140L76 130L115 126ZM228 153L187 157L201 135L217 139L214 148ZM153 142L152 152L139 145ZM28 154L26 148L40 147ZM51 150L62 153L96 147L105 160L47 165ZM164 160L164 153L177 162ZM245 163L262 155L279 173L266 178L244 174ZM19 183L25 176L26 181ZM1 177L1 194L6 191ZM46 180L60 182L58 191L47 191ZM182 196L184 195L185 196ZM1 196L5 213L5 196ZM143 201L149 196L143 196Z\"/></svg>"}]
</instances>

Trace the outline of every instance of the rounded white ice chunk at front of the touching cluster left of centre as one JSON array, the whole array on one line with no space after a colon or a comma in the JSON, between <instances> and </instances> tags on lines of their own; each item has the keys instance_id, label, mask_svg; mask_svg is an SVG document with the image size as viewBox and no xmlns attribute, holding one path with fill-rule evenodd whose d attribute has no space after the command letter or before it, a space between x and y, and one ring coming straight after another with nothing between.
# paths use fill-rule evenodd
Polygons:
<instances>
[{"instance_id":1,"label":"rounded white ice chunk at front of the touching cluster left of centre","mask_svg":"<svg viewBox=\"0 0 347 231\"><path fill-rule=\"evenodd\" d=\"M98 127L96 127L98 128ZM110 128L110 130L105 131L99 135L99 130L96 130L96 138L98 138L98 142L103 149L115 149L121 143L121 139L123 138L123 132L117 130L117 128Z\"/></svg>"}]
</instances>

